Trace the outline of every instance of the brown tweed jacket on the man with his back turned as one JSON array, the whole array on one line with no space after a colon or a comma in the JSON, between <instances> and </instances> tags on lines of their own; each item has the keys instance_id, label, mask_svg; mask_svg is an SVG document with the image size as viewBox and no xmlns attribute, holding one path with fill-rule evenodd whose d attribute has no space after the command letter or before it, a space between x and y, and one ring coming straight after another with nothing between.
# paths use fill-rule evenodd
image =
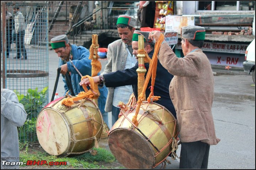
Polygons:
<instances>
[{"instance_id":1,"label":"brown tweed jacket on the man with his back turned","mask_svg":"<svg viewBox=\"0 0 256 170\"><path fill-rule=\"evenodd\" d=\"M217 145L212 116L214 77L210 62L201 49L176 57L167 43L159 50L159 61L174 78L169 86L177 113L181 142L202 141Z\"/></svg>"}]
</instances>

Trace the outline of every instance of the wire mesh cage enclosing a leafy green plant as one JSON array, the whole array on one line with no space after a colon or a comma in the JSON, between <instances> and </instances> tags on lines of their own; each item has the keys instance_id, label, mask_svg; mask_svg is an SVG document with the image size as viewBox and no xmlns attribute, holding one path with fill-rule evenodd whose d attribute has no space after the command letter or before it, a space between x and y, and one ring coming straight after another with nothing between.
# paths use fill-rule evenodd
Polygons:
<instances>
[{"instance_id":1,"label":"wire mesh cage enclosing a leafy green plant","mask_svg":"<svg viewBox=\"0 0 256 170\"><path fill-rule=\"evenodd\" d=\"M1 1L1 88L28 114L20 142L37 142L36 118L48 103L48 2Z\"/></svg>"}]
</instances>

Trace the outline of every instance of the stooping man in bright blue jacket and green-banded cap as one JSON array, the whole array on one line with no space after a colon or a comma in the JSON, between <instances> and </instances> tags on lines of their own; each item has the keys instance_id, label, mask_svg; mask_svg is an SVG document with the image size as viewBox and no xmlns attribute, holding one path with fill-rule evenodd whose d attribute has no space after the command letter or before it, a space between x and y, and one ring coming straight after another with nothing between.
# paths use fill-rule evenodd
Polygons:
<instances>
[{"instance_id":1,"label":"stooping man in bright blue jacket and green-banded cap","mask_svg":"<svg viewBox=\"0 0 256 170\"><path fill-rule=\"evenodd\" d=\"M66 35L58 35L51 39L51 45L54 51L60 57L59 66L61 67L60 73L62 73L65 93L68 92L69 88L65 80L65 74L69 73L71 76L72 88L74 95L78 95L79 92L84 91L82 86L79 85L81 76L76 71L75 67L79 70L82 75L91 76L91 60L89 59L90 52L83 46L77 46L75 44L70 45L68 37ZM69 61L71 60L71 61ZM73 66L73 64L74 66ZM100 73L98 73L100 75ZM102 117L108 125L108 113L105 112L105 103L107 99L107 88L106 86L99 86L100 97L98 98L98 107L100 108Z\"/></svg>"}]
</instances>

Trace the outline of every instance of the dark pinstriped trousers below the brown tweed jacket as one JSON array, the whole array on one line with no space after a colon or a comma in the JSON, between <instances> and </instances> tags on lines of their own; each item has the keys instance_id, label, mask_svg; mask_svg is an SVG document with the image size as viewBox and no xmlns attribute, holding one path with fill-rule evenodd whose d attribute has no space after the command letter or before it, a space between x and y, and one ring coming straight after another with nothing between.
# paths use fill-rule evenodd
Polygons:
<instances>
[{"instance_id":1,"label":"dark pinstriped trousers below the brown tweed jacket","mask_svg":"<svg viewBox=\"0 0 256 170\"><path fill-rule=\"evenodd\" d=\"M201 141L181 143L180 169L207 169L209 150Z\"/></svg>"}]
</instances>

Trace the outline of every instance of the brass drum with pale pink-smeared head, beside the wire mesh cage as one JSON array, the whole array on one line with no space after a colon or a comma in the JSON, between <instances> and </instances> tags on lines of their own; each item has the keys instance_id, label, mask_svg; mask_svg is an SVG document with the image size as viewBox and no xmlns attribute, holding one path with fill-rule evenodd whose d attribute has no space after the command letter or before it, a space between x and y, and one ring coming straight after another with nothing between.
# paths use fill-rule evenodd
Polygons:
<instances>
[{"instance_id":1,"label":"brass drum with pale pink-smeared head, beside the wire mesh cage","mask_svg":"<svg viewBox=\"0 0 256 170\"><path fill-rule=\"evenodd\" d=\"M62 104L66 97L50 102L37 117L36 132L42 148L51 155L68 156L90 151L102 135L103 119L90 99Z\"/></svg>"}]
</instances>

